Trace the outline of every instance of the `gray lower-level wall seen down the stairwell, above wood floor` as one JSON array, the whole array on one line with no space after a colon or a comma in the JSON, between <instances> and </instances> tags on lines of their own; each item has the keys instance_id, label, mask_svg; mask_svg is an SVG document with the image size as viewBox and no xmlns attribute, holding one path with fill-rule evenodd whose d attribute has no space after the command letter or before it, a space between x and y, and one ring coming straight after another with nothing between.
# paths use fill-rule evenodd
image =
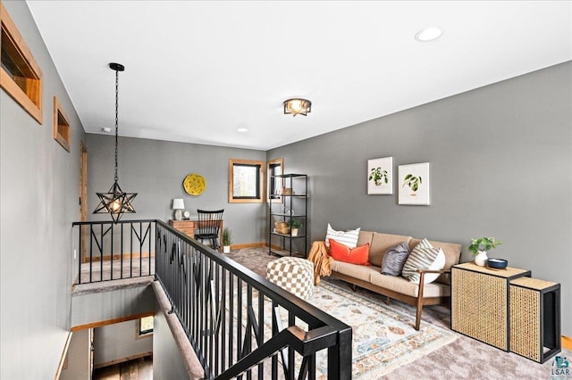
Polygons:
<instances>
[{"instance_id":1,"label":"gray lower-level wall seen down the stairwell, above wood floor","mask_svg":"<svg viewBox=\"0 0 572 380\"><path fill-rule=\"evenodd\" d=\"M95 328L93 344L93 364L97 367L114 360L152 352L153 335L139 337L139 319L128 320Z\"/></svg>"}]
</instances>

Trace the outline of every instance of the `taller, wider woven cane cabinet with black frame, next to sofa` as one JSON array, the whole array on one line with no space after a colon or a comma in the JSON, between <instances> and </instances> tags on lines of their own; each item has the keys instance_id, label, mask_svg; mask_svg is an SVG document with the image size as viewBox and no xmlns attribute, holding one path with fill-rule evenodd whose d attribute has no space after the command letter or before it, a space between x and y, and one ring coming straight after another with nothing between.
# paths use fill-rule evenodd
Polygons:
<instances>
[{"instance_id":1,"label":"taller, wider woven cane cabinet with black frame, next to sofa","mask_svg":"<svg viewBox=\"0 0 572 380\"><path fill-rule=\"evenodd\" d=\"M451 268L451 329L509 351L509 282L530 270L492 269L473 262Z\"/></svg>"}]
</instances>

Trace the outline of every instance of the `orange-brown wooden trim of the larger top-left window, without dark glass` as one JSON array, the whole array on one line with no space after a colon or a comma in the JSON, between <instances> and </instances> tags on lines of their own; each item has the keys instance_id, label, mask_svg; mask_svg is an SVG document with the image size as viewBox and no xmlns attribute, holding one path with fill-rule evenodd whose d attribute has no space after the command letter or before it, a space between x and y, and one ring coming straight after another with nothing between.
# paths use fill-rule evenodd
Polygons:
<instances>
[{"instance_id":1,"label":"orange-brown wooden trim of the larger top-left window, without dark glass","mask_svg":"<svg viewBox=\"0 0 572 380\"><path fill-rule=\"evenodd\" d=\"M12 50L10 58L15 60L19 66L29 71L29 75L24 79L26 82L26 91L24 91L18 86L12 76L0 66L0 87L4 88L4 91L12 96L39 124L43 124L42 70L31 54L24 38L21 37L20 31L16 28L16 24L14 24L8 12L6 12L2 2L0 2L0 26L2 27L2 35L11 43L11 45L9 45L10 50ZM1 49L2 38L0 38L0 50Z\"/></svg>"}]
</instances>

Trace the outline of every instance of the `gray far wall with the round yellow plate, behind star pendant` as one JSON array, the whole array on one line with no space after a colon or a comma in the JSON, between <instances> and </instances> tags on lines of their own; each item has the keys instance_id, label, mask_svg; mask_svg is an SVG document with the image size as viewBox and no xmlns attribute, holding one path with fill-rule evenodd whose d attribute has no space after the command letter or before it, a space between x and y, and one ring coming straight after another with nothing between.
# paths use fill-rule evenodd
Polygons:
<instances>
[{"instance_id":1,"label":"gray far wall with the round yellow plate, behind star pendant","mask_svg":"<svg viewBox=\"0 0 572 380\"><path fill-rule=\"evenodd\" d=\"M121 120L120 130L121 130ZM109 219L92 215L98 204L97 192L107 192L114 182L114 136L87 135L88 219ZM263 203L229 203L229 160L265 161L266 153L210 145L172 143L141 138L119 138L119 185L128 193L138 193L132 202L137 213L123 219L172 219L172 199L182 198L186 210L224 209L224 226L232 230L232 244L265 242ZM206 190L191 196L182 188L189 173L206 180ZM245 223L245 220L248 222Z\"/></svg>"}]
</instances>

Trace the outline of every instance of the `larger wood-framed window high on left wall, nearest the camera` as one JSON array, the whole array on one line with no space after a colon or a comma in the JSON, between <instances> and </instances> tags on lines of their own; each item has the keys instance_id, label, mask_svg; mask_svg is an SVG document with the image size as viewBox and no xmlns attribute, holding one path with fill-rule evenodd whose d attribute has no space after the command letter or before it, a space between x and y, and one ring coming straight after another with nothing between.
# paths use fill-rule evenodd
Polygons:
<instances>
[{"instance_id":1,"label":"larger wood-framed window high on left wall, nearest the camera","mask_svg":"<svg viewBox=\"0 0 572 380\"><path fill-rule=\"evenodd\" d=\"M42 70L2 2L0 24L0 87L32 118L43 124Z\"/></svg>"}]
</instances>

